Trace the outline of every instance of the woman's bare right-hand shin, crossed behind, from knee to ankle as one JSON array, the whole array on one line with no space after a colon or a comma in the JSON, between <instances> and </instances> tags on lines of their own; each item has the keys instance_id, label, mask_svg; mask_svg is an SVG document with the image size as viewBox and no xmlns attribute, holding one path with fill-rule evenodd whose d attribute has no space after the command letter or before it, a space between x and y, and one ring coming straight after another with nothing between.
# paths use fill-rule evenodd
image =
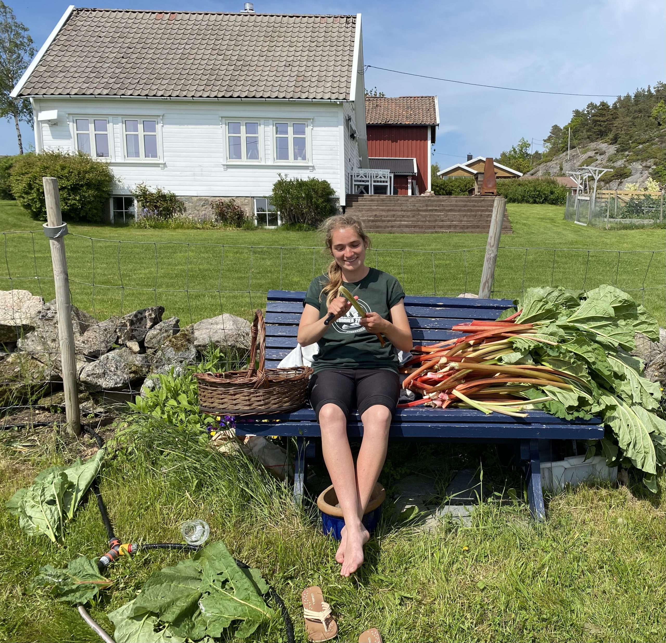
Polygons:
<instances>
[{"instance_id":1,"label":"woman's bare right-hand shin, crossed behind, from knee to ankle","mask_svg":"<svg viewBox=\"0 0 666 643\"><path fill-rule=\"evenodd\" d=\"M362 518L386 460L391 411L384 405L376 404L364 411L361 419L363 441L356 460L356 485Z\"/></svg>"}]
</instances>

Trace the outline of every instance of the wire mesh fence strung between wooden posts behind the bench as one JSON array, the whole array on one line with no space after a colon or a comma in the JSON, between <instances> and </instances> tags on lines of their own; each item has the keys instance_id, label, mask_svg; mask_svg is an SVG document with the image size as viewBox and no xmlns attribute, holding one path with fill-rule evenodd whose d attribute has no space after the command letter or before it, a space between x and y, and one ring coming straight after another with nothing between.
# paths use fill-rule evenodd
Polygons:
<instances>
[{"instance_id":1,"label":"wire mesh fence strung between wooden posts behind the bench","mask_svg":"<svg viewBox=\"0 0 666 643\"><path fill-rule=\"evenodd\" d=\"M49 245L39 232L2 233L2 242L0 290L28 291L39 314L26 323L0 320L0 425L49 425L63 410ZM206 368L239 367L249 333L238 318L251 320L256 308L265 308L268 290L306 290L330 261L312 247L77 234L67 236L66 247L82 417L89 421L114 403L122 407L142 385L154 383L151 375L172 366L182 372L204 358ZM478 292L484 254L485 248L380 248L368 252L366 264L394 274L407 294L458 296ZM586 290L601 284L629 292L663 325L666 250L501 247L492 296L513 299L533 286ZM153 327L158 320L163 322Z\"/></svg>"}]
</instances>

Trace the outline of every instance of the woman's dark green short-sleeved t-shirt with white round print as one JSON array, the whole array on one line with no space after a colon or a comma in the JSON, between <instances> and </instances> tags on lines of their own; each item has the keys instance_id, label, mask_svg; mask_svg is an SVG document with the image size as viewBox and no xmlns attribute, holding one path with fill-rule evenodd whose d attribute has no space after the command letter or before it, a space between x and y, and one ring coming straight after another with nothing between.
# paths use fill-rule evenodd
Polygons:
<instances>
[{"instance_id":1,"label":"woman's dark green short-sleeved t-shirt with white round print","mask_svg":"<svg viewBox=\"0 0 666 643\"><path fill-rule=\"evenodd\" d=\"M342 283L352 295L358 295L358 303L364 310L378 313L389 321L391 308L405 296L400 282L394 276L375 268L370 268L370 272L360 282ZM303 302L303 305L310 304L318 308L320 318L328 315L326 296L321 295L326 284L326 275L315 277ZM319 353L314 356L312 363L315 372L327 368L372 368L398 372L398 353L393 344L384 337L386 344L382 347L377 335L358 322L358 313L352 306L346 316L328 326L324 337L317 342Z\"/></svg>"}]
</instances>

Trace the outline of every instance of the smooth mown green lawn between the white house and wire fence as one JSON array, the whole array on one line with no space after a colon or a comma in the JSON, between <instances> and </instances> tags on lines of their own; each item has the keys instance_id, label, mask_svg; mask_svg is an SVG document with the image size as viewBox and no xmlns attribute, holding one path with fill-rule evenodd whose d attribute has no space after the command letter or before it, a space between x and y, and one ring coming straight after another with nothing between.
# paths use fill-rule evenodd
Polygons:
<instances>
[{"instance_id":1,"label":"smooth mown green lawn between the white house and wire fence","mask_svg":"<svg viewBox=\"0 0 666 643\"><path fill-rule=\"evenodd\" d=\"M509 204L494 296L556 284L611 283L665 321L663 230L598 230L566 222L563 208ZM3 288L53 297L41 224L15 202L0 202ZM326 265L314 232L284 230L139 230L72 224L67 256L74 303L99 318L157 303L193 322L231 312L249 317L271 288L304 290ZM119 243L120 242L120 243ZM392 272L408 294L478 292L484 234L374 234L370 264ZM589 252L588 252L589 251ZM640 252L619 252L640 251Z\"/></svg>"}]
</instances>

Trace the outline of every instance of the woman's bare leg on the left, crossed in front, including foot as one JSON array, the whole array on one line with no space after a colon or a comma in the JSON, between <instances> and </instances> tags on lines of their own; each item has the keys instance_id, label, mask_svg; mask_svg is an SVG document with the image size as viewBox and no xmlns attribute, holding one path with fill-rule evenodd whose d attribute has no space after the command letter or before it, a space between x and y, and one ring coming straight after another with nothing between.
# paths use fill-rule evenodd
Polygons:
<instances>
[{"instance_id":1,"label":"woman's bare leg on the left, crossed in front, including foot","mask_svg":"<svg viewBox=\"0 0 666 643\"><path fill-rule=\"evenodd\" d=\"M345 523L342 530L342 542L340 542L340 547L336 553L336 560L343 565L340 573L348 576L351 572L344 573L346 571L345 565L348 565L348 563L356 564L352 571L360 566L363 562L362 542L365 542L369 535L360 519L354 458L347 439L347 419L338 405L324 404L319 411L319 425L322 429L324 461L335 488ZM350 542L354 543L354 555L348 560L347 548ZM357 560L359 554L360 560Z\"/></svg>"}]
</instances>

